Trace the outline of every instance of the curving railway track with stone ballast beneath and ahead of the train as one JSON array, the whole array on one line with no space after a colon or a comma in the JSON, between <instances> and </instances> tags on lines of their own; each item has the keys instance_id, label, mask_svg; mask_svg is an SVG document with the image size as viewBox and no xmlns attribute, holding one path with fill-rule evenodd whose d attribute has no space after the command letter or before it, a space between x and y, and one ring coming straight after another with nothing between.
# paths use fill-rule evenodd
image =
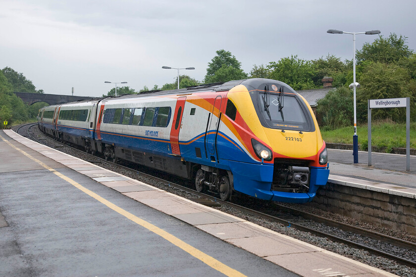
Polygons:
<instances>
[{"instance_id":1,"label":"curving railway track with stone ballast beneath and ahead of the train","mask_svg":"<svg viewBox=\"0 0 416 277\"><path fill-rule=\"evenodd\" d=\"M28 137L43 144L46 144L44 141L52 140L50 138L47 139L44 137L35 138L35 136L31 134L30 130L36 125L37 124L21 125L16 129L16 132L24 137ZM58 141L52 141L53 144L61 144ZM69 147L68 145L65 145L65 147L66 146ZM62 145L60 147L62 147ZM179 185L176 183L183 183L183 180L180 180L176 177L172 179L172 177L169 176L169 180L165 180L149 173L140 172L137 170L137 168L132 169L120 164L114 165L105 159L87 154L86 152L76 148L71 148L71 151L82 154L83 157L87 157L86 159L91 162L101 163L103 166L116 166L124 172L130 172L130 174L133 176L141 176L142 178L153 180L155 182L164 184L165 186L167 185L170 188L173 187L179 191L186 192L185 194L192 194L190 197L191 200L200 202L202 204L227 207L227 210L234 210L238 213L244 213L249 217L254 217L255 219L278 223L285 227L294 228L303 232L309 232L316 236L324 237L331 241L342 243L343 245L348 245L354 249L363 249L368 253L375 255L375 257L387 258L393 261L393 263L396 265L395 270L390 270L390 272L394 274L398 274L400 276L415 276L416 274L416 243L414 242L317 216L309 212L288 207L286 205L281 205L274 202L264 203L264 201L257 201L257 199L254 198L248 199L246 196L241 196L241 198L243 198L242 201L239 199L239 196L237 196L236 198L232 199L232 202L224 202L214 194L200 193L194 189L191 189L189 181L186 181L185 184ZM246 204L238 204L238 202L244 202ZM256 209L250 208L250 206L256 206ZM221 207L216 208L221 209ZM319 244L317 246L322 247L322 245ZM363 261L361 260L361 262ZM385 264L374 265L368 261L366 261L366 263L370 264L371 266L389 271L385 268ZM397 264L402 265L400 266L400 270L397 269Z\"/></svg>"}]
</instances>

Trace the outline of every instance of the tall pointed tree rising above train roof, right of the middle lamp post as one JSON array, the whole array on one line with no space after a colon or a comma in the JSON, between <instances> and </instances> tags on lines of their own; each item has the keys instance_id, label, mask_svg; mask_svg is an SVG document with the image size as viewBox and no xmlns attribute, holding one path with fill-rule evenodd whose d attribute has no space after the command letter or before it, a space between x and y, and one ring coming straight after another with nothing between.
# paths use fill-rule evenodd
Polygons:
<instances>
[{"instance_id":1,"label":"tall pointed tree rising above train roof, right of the middle lamp post","mask_svg":"<svg viewBox=\"0 0 416 277\"><path fill-rule=\"evenodd\" d=\"M241 62L230 51L220 49L216 54L208 63L204 80L206 84L247 78L247 74L241 69Z\"/></svg>"}]
</instances>

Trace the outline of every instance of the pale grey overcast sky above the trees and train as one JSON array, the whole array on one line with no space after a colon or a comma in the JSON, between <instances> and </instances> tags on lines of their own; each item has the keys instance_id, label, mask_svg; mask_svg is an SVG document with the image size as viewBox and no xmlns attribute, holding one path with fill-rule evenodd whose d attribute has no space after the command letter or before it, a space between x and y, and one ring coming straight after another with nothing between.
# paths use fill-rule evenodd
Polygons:
<instances>
[{"instance_id":1,"label":"pale grey overcast sky above the trees and train","mask_svg":"<svg viewBox=\"0 0 416 277\"><path fill-rule=\"evenodd\" d=\"M0 0L0 68L22 72L45 93L101 96L110 82L139 91L202 81L225 49L249 73L298 55L352 59L353 36L380 30L416 50L415 0ZM357 35L357 48L378 35Z\"/></svg>"}]
</instances>

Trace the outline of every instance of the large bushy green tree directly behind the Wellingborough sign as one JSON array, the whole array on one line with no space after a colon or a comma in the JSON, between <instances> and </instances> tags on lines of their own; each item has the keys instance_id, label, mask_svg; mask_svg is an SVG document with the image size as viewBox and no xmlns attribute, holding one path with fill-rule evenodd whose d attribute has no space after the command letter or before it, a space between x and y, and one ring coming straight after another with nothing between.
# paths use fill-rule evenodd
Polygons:
<instances>
[{"instance_id":1,"label":"large bushy green tree directly behind the Wellingborough sign","mask_svg":"<svg viewBox=\"0 0 416 277\"><path fill-rule=\"evenodd\" d=\"M396 64L381 62L367 66L361 77L361 89L357 92L357 117L366 121L367 100L410 97L412 84L409 72ZM406 109L388 108L371 111L373 119L404 121Z\"/></svg>"}]
</instances>

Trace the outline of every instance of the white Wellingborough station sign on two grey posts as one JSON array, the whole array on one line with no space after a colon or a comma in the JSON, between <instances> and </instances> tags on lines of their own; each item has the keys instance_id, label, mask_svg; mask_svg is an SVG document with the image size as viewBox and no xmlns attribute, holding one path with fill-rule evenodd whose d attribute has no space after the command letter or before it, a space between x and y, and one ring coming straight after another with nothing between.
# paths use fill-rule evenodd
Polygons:
<instances>
[{"instance_id":1,"label":"white Wellingborough station sign on two grey posts","mask_svg":"<svg viewBox=\"0 0 416 277\"><path fill-rule=\"evenodd\" d=\"M368 100L368 166L371 166L371 109L406 107L406 170L410 171L410 98Z\"/></svg>"}]
</instances>

